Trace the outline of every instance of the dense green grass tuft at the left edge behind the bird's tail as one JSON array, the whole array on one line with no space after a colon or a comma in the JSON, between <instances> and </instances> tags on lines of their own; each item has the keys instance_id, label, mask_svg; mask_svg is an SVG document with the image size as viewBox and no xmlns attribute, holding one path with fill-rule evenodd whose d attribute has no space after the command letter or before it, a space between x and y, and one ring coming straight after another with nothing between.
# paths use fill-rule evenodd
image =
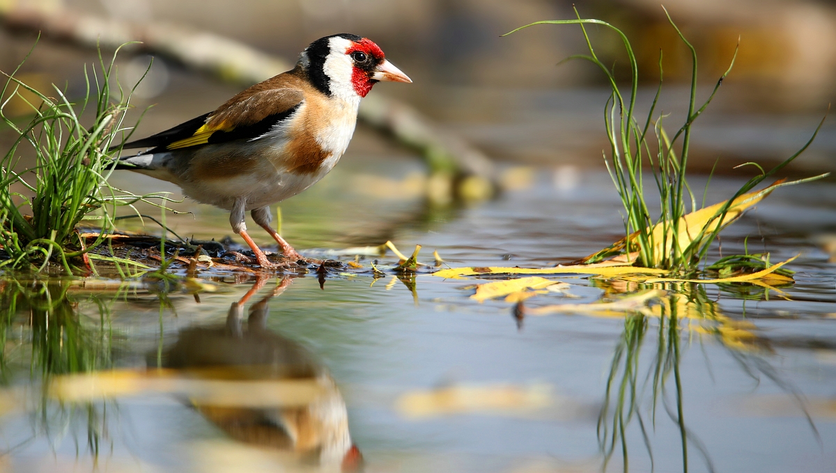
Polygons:
<instances>
[{"instance_id":1,"label":"dense green grass tuft at the left edge behind the bird's tail","mask_svg":"<svg viewBox=\"0 0 836 473\"><path fill-rule=\"evenodd\" d=\"M8 80L0 92L0 120L18 138L0 163L0 244L8 254L0 267L41 271L54 261L71 273L74 259L104 242L115 228L118 206L150 197L165 199L130 194L107 184L116 164L113 158L120 152L120 147L110 147L123 143L135 128L125 126L133 89L120 86L117 53L105 62L99 52L98 64L91 69L85 65L86 92L77 103L55 85L50 97L15 78L23 63L12 74L3 73ZM27 101L26 95L41 103ZM19 127L4 111L13 98L32 110L33 118L25 126ZM84 126L82 117L87 115L92 115L92 123ZM18 169L22 151L34 155L32 167ZM87 245L76 231L84 220L102 229Z\"/></svg>"}]
</instances>

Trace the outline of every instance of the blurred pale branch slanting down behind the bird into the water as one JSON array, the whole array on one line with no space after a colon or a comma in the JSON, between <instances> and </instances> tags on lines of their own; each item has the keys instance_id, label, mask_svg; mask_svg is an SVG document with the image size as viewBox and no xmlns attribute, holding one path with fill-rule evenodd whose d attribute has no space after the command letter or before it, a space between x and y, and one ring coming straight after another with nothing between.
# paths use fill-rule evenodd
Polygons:
<instances>
[{"instance_id":1,"label":"blurred pale branch slanting down behind the bird into the water","mask_svg":"<svg viewBox=\"0 0 836 473\"><path fill-rule=\"evenodd\" d=\"M115 49L140 41L130 48L242 86L293 68L292 63L247 44L172 23L128 23L64 8L24 8L16 2L0 2L0 22L12 31L40 31L46 38L83 48L96 48L99 43L101 48ZM419 150L433 174L494 180L493 164L481 151L406 103L374 93L363 100L359 119Z\"/></svg>"}]
</instances>

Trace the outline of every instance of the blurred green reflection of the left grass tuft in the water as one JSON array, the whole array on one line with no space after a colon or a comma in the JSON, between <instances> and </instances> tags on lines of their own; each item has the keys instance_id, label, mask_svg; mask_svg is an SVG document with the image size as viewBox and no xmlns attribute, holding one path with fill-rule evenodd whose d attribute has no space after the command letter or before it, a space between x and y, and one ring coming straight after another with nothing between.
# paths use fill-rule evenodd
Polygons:
<instances>
[{"instance_id":1,"label":"blurred green reflection of the left grass tuft in the water","mask_svg":"<svg viewBox=\"0 0 836 473\"><path fill-rule=\"evenodd\" d=\"M79 310L79 300L69 295L70 280L48 281L3 280L0 307L0 369L3 385L12 385L27 375L29 386L20 401L32 406L32 435L23 445L37 436L46 437L55 445L65 435L72 436L75 450L86 443L90 454L98 456L102 442L108 439L108 402L89 401L79 405L54 403L48 386L56 375L106 370L112 366L114 333L110 325L109 303L99 296L89 296L85 307L92 306L96 314ZM11 332L19 330L18 343ZM28 342L26 340L28 338ZM28 362L26 360L28 358ZM39 390L39 395L35 391ZM112 409L111 409L112 410ZM80 429L80 430L79 430ZM78 435L86 431L85 435ZM84 437L80 440L79 437ZM21 445L22 446L22 445Z\"/></svg>"}]
</instances>

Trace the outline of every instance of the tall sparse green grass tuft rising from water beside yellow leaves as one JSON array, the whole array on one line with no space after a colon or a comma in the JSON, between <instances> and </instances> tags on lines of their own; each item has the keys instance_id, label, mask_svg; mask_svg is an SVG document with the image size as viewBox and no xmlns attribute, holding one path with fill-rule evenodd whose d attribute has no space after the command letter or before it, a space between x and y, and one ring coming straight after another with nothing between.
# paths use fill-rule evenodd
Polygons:
<instances>
[{"instance_id":1,"label":"tall sparse green grass tuft rising from water beside yellow leaves","mask_svg":"<svg viewBox=\"0 0 836 473\"><path fill-rule=\"evenodd\" d=\"M577 9L575 9L575 15L577 19L549 20L531 23L507 34L538 24L577 24L581 27L589 54L577 54L568 59L584 59L594 63L604 73L609 87L612 90L605 106L604 125L610 148L609 156L604 153L604 162L607 164L609 175L613 179L615 188L618 190L619 197L624 206L624 229L628 238L626 240L626 247L621 253L635 254L635 262L642 266L670 269L683 275L691 274L696 271L700 262L705 259L708 249L711 248L711 244L717 235L727 223L730 223L725 217L731 207L732 201L754 189L765 179L777 174L778 171L798 158L808 148L810 143L813 142L813 138L815 138L818 130L821 128L823 120L822 123L819 123L815 133L813 133L813 137L804 144L803 148L781 164L778 164L774 169L764 171L756 164L755 166L760 170L760 174L749 179L731 199L728 199L727 203L722 205L716 214L706 221L700 232L688 235L688 240L681 242L679 241L681 238L680 226L684 224L682 218L686 214L699 209L696 198L691 191L691 186L686 179L688 153L691 146L691 127L696 118L699 118L708 107L708 104L711 103L723 79L732 71L734 60L737 57L737 48L726 73L723 73L721 78L717 80L714 89L711 91L711 95L706 101L697 107L696 50L681 33L680 29L676 27L676 24L670 18L670 15L668 15L667 10L665 10L665 15L667 15L670 26L675 29L681 41L685 43L691 52L691 94L688 103L688 114L685 123L671 137L665 132L665 128L662 126L664 115L660 114L654 119L656 103L660 98L663 77L661 53L659 59L659 88L656 90L655 98L650 105L650 110L646 118L640 121L635 111L636 94L639 88L639 70L630 41L619 28L615 28L609 23L596 19L580 18ZM622 93L621 88L616 83L613 69L608 68L599 60L589 40L589 34L585 25L603 26L619 35L622 43L624 43L624 49L630 63L631 82L629 93ZM652 136L648 136L651 125L655 139ZM646 204L648 197L645 194L644 178L646 171L650 171L652 174L655 187L659 193L661 211L658 217L650 213L650 209ZM807 182L808 180L822 178L825 175L827 174L786 184ZM716 224L718 222L722 224ZM661 225L662 231L656 234L662 235L662 239L669 241L654 241L653 228L657 224ZM657 236L656 239L658 238ZM604 252L600 254L599 259L602 259L604 254L607 256L611 255ZM596 260L592 259L587 262L594 263Z\"/></svg>"}]
</instances>

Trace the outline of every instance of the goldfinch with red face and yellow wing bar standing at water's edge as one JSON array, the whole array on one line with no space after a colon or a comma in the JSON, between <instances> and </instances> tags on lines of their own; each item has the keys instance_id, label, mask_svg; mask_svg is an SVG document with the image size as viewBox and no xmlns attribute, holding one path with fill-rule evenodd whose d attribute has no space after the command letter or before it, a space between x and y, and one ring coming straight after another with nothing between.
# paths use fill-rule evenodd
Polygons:
<instances>
[{"instance_id":1,"label":"goldfinch with red face and yellow wing bar standing at water's edge","mask_svg":"<svg viewBox=\"0 0 836 473\"><path fill-rule=\"evenodd\" d=\"M295 67L237 93L220 107L176 127L116 148L130 169L178 185L202 204L230 211L232 231L263 269L277 269L247 233L246 212L267 230L286 259L304 260L270 225L270 205L328 174L349 146L360 99L380 81L412 80L369 38L319 38Z\"/></svg>"}]
</instances>

